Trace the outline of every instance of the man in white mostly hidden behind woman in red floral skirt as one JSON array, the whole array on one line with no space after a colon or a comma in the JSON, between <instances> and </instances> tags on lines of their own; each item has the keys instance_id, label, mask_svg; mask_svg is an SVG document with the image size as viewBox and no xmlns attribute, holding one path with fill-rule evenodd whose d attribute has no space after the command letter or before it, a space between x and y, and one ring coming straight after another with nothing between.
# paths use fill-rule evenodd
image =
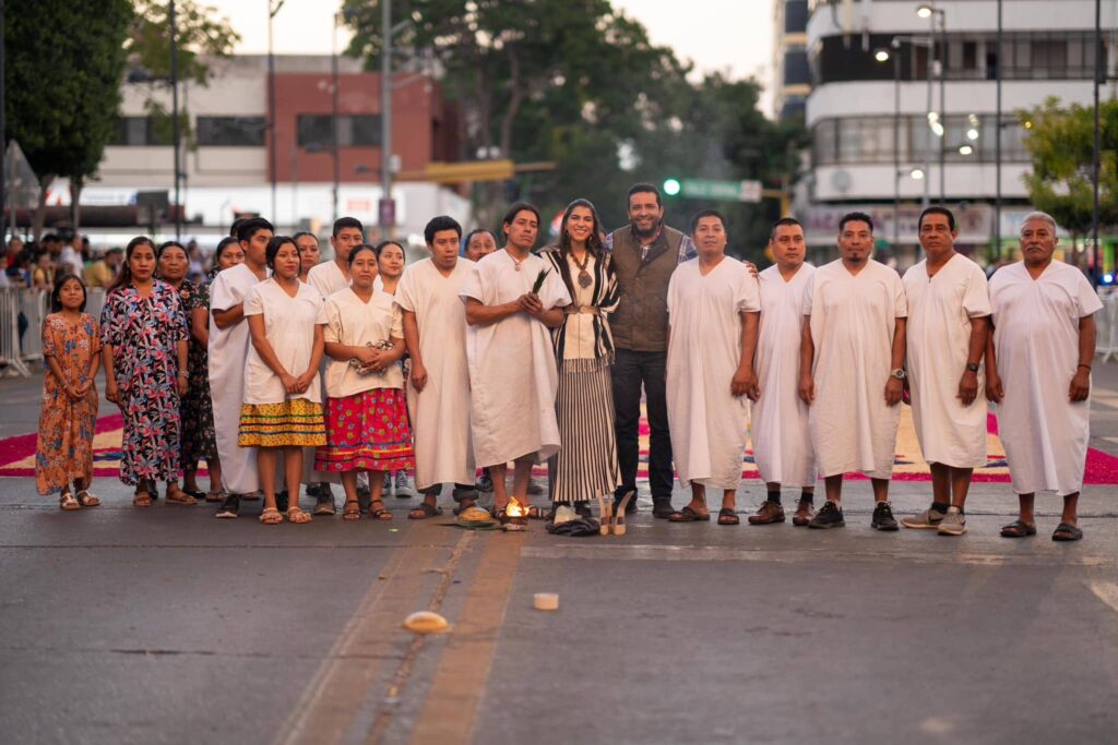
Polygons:
<instances>
[{"instance_id":1,"label":"man in white mostly hidden behind woman in red floral skirt","mask_svg":"<svg viewBox=\"0 0 1118 745\"><path fill-rule=\"evenodd\" d=\"M306 284L319 290L323 299L349 287L352 281L350 277L349 255L362 242L364 242L364 226L361 225L360 220L351 217L340 217L334 220L333 228L330 231L330 246L334 249L334 258L332 261L324 261L311 267L311 270L306 275ZM383 285L378 287L378 281L380 281L380 277L373 280L373 290L383 287ZM325 372L326 361L323 360L322 370L320 370L319 375L320 381L325 381ZM324 383L322 385L324 386ZM322 392L325 393L324 390ZM337 505L334 505L334 495L330 490L330 485L340 484L341 478L338 474L314 470L314 448L304 448L303 479L307 484L306 493L314 496L315 499L314 514L333 515L337 510ZM357 484L358 495L361 499L361 509L368 509L370 500L369 475L366 471L359 472ZM282 507L283 505L281 505Z\"/></svg>"}]
</instances>

